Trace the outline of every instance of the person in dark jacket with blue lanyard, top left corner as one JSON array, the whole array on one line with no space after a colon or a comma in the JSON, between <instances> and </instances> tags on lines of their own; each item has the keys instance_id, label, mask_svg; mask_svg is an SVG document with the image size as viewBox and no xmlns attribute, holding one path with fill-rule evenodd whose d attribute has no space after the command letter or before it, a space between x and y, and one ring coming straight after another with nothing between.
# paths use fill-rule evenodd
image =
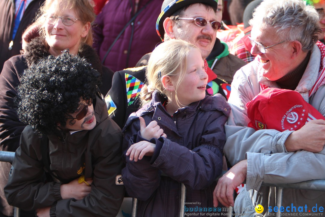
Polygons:
<instances>
[{"instance_id":1,"label":"person in dark jacket with blue lanyard, top left corner","mask_svg":"<svg viewBox=\"0 0 325 217\"><path fill-rule=\"evenodd\" d=\"M6 60L21 50L21 35L35 19L44 0L0 1L0 72Z\"/></svg>"}]
</instances>

